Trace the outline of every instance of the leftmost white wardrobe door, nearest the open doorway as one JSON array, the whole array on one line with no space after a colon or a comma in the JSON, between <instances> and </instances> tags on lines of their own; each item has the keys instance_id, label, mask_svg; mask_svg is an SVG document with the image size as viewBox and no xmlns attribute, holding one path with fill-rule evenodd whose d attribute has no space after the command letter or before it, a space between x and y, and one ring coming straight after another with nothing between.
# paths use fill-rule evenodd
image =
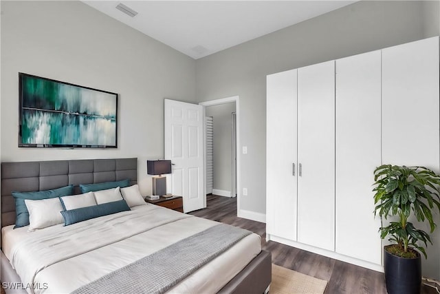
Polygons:
<instances>
[{"instance_id":1,"label":"leftmost white wardrobe door, nearest the open doorway","mask_svg":"<svg viewBox=\"0 0 440 294\"><path fill-rule=\"evenodd\" d=\"M267 76L266 159L267 235L296 240L296 70Z\"/></svg>"}]
</instances>

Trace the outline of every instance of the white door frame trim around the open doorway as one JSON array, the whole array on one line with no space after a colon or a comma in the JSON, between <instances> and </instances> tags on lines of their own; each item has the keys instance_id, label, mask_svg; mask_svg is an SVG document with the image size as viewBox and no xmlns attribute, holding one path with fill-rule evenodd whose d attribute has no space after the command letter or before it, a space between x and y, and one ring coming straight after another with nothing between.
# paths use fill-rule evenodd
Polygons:
<instances>
[{"instance_id":1,"label":"white door frame trim around the open doorway","mask_svg":"<svg viewBox=\"0 0 440 294\"><path fill-rule=\"evenodd\" d=\"M235 102L235 112L236 112L236 211L237 216L240 211L240 200L241 200L241 152L239 152L241 146L240 140L240 97L239 96L231 96L226 98L214 99L210 101L200 102L199 105L203 106L203 116L205 116L205 108L207 106L221 105L225 103ZM205 134L205 132L203 132ZM203 135L204 136L204 135ZM206 154L205 154L206 156ZM206 165L206 160L203 160ZM206 182L204 192L206 195ZM206 201L206 197L205 197ZM206 203L205 203L206 204Z\"/></svg>"}]
</instances>

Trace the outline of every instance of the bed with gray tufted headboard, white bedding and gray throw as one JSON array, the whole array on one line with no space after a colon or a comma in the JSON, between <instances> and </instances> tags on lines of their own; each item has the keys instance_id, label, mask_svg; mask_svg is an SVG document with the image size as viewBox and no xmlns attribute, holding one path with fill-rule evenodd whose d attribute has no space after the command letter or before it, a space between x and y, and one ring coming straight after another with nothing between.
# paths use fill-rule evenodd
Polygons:
<instances>
[{"instance_id":1,"label":"bed with gray tufted headboard, white bedding and gray throw","mask_svg":"<svg viewBox=\"0 0 440 294\"><path fill-rule=\"evenodd\" d=\"M79 195L80 184L125 179L130 187L137 184L137 158L2 162L1 282L6 293L267 293L271 256L261 251L259 235L153 204L68 226L12 229L12 191L73 185ZM222 233L237 237L205 258L211 253L204 251L220 246L223 238L213 240Z\"/></svg>"}]
</instances>

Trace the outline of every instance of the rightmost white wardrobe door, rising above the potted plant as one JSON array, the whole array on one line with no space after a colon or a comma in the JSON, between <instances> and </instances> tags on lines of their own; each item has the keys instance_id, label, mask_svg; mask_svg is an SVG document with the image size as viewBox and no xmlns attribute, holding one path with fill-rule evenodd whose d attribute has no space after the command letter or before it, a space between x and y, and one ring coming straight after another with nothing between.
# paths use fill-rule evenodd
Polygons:
<instances>
[{"instance_id":1,"label":"rightmost white wardrobe door, rising above the potted plant","mask_svg":"<svg viewBox=\"0 0 440 294\"><path fill-rule=\"evenodd\" d=\"M382 162L439 171L439 37L382 50Z\"/></svg>"}]
</instances>

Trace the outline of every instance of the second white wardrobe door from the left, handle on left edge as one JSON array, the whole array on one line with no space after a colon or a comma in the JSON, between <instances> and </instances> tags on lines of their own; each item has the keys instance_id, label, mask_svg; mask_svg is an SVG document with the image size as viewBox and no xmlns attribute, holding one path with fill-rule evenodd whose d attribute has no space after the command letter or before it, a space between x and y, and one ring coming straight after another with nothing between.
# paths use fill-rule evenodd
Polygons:
<instances>
[{"instance_id":1,"label":"second white wardrobe door from the left, handle on left edge","mask_svg":"<svg viewBox=\"0 0 440 294\"><path fill-rule=\"evenodd\" d=\"M298 69L298 242L335 249L335 61Z\"/></svg>"}]
</instances>

